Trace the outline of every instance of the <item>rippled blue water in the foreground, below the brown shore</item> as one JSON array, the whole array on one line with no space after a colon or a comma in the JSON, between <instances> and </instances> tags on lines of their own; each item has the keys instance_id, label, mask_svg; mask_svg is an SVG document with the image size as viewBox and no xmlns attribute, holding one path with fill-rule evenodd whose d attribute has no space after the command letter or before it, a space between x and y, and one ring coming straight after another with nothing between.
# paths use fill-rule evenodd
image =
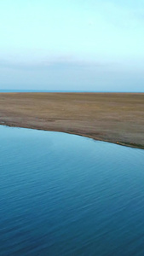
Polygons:
<instances>
[{"instance_id":1,"label":"rippled blue water in the foreground, below the brown shore","mask_svg":"<svg viewBox=\"0 0 144 256\"><path fill-rule=\"evenodd\" d=\"M144 150L0 127L0 255L144 255Z\"/></svg>"}]
</instances>

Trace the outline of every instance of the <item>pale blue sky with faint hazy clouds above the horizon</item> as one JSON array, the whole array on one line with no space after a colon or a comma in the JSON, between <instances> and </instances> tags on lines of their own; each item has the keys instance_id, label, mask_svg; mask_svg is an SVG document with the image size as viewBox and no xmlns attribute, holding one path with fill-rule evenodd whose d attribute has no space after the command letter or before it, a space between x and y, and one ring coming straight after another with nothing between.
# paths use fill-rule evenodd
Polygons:
<instances>
[{"instance_id":1,"label":"pale blue sky with faint hazy clouds above the horizon","mask_svg":"<svg viewBox=\"0 0 144 256\"><path fill-rule=\"evenodd\" d=\"M0 1L0 90L144 92L144 0Z\"/></svg>"}]
</instances>

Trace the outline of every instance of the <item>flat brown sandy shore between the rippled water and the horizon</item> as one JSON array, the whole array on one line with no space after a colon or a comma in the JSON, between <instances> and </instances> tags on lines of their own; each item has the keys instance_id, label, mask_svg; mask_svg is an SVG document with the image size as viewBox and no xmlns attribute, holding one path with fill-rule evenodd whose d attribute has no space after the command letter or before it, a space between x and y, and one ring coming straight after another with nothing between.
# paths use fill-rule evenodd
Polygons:
<instances>
[{"instance_id":1,"label":"flat brown sandy shore between the rippled water and the horizon","mask_svg":"<svg viewBox=\"0 0 144 256\"><path fill-rule=\"evenodd\" d=\"M0 125L144 148L144 93L0 93Z\"/></svg>"}]
</instances>

